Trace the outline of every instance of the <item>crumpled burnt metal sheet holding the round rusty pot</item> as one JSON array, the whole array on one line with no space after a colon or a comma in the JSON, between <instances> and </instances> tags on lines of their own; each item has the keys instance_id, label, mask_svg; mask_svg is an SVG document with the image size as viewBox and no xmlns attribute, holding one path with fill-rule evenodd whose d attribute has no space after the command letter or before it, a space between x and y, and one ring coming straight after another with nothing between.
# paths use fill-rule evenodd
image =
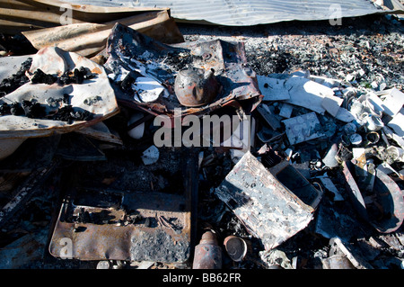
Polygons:
<instances>
[{"instance_id":1,"label":"crumpled burnt metal sheet holding the round rusty pot","mask_svg":"<svg viewBox=\"0 0 404 287\"><path fill-rule=\"evenodd\" d=\"M173 117L174 109L182 115L207 113L233 100L261 98L255 72L248 67L242 42L223 40L184 42L166 45L117 23L107 42L109 58L104 67L110 71L119 102L135 105L153 114ZM213 68L222 91L213 103L200 107L180 105L174 93L174 80L185 67ZM163 93L153 102L142 102L138 90L122 88L128 78L146 77L161 85Z\"/></svg>"}]
</instances>

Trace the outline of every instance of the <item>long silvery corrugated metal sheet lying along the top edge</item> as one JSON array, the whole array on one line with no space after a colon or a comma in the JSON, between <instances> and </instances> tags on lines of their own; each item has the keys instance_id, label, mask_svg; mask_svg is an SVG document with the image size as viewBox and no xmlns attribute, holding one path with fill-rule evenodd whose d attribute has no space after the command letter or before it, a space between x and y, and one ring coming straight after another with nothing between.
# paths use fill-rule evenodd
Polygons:
<instances>
[{"instance_id":1,"label":"long silvery corrugated metal sheet lying along the top edge","mask_svg":"<svg viewBox=\"0 0 404 287\"><path fill-rule=\"evenodd\" d=\"M386 13L370 0L71 0L75 4L167 7L177 21L249 26L292 20L329 20ZM339 10L340 9L340 10ZM337 17L336 17L337 16Z\"/></svg>"}]
</instances>

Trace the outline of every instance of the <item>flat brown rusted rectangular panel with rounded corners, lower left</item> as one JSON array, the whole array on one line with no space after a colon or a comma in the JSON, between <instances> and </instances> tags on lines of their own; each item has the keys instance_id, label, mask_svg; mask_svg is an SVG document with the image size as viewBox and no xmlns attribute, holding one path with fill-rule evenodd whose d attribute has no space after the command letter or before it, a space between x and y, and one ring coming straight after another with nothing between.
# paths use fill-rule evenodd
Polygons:
<instances>
[{"instance_id":1,"label":"flat brown rusted rectangular panel with rounded corners, lower left","mask_svg":"<svg viewBox=\"0 0 404 287\"><path fill-rule=\"evenodd\" d=\"M72 258L185 262L189 258L190 212L184 196L81 190L62 205L49 245L63 257L66 238Z\"/></svg>"}]
</instances>

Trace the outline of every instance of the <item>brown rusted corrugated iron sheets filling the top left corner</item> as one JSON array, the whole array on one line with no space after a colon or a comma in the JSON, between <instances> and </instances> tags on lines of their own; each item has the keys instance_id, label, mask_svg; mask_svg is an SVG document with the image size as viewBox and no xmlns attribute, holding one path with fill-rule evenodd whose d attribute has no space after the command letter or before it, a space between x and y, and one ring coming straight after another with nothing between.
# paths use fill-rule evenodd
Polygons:
<instances>
[{"instance_id":1,"label":"brown rusted corrugated iron sheets filling the top left corner","mask_svg":"<svg viewBox=\"0 0 404 287\"><path fill-rule=\"evenodd\" d=\"M69 26L67 24L77 24L77 27L85 24L87 28L92 27L93 29L108 25L110 22L112 26L115 22L124 22L127 25L137 24L136 29L144 29L146 33L154 31L156 35L162 35L164 31L168 34L174 31L174 29L170 31L167 28L177 29L173 20L169 21L174 23L174 26L170 27L171 24L168 23L167 18L162 19L162 17L157 16L159 13L165 13L170 18L170 9L166 7L155 8L154 5L150 7L102 7L92 4L70 4L56 0L0 0L0 8L0 31L11 34L62 25L67 28ZM153 14L152 18L151 14ZM154 21L150 22L152 19ZM145 25L139 26L141 22L145 22ZM69 27L69 29L71 28ZM160 29L160 31L156 31L154 28ZM31 35L35 35L35 33ZM57 33L52 33L52 35L57 36ZM180 35L178 31L177 35ZM72 36L69 35L68 37L71 38ZM168 39L167 36L165 36L166 39ZM62 38L57 37L57 39L61 40ZM162 40L159 37L157 39ZM78 44L83 46L83 42L78 42Z\"/></svg>"}]
</instances>

